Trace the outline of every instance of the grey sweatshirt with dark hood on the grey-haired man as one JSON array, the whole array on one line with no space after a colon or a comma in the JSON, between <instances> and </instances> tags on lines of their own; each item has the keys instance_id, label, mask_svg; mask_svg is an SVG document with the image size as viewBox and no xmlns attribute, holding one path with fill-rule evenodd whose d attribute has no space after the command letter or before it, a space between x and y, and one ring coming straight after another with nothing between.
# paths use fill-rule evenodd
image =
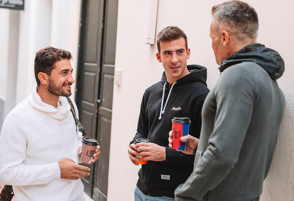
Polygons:
<instances>
[{"instance_id":1,"label":"grey sweatshirt with dark hood on the grey-haired man","mask_svg":"<svg viewBox=\"0 0 294 201\"><path fill-rule=\"evenodd\" d=\"M175 191L180 201L258 201L283 115L276 79L280 55L250 44L220 63L202 109L194 170Z\"/></svg>"}]
</instances>

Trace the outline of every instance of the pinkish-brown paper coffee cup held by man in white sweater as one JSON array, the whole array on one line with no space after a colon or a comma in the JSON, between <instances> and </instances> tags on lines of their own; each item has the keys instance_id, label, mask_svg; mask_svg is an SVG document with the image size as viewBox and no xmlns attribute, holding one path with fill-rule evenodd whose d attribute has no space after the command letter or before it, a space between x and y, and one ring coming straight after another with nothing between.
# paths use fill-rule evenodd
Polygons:
<instances>
[{"instance_id":1,"label":"pinkish-brown paper coffee cup held by man in white sweater","mask_svg":"<svg viewBox=\"0 0 294 201\"><path fill-rule=\"evenodd\" d=\"M99 145L99 143L97 142L97 140L94 140L92 138L84 138L82 140L82 158L81 158L81 162L82 163L92 163L92 159L93 154L95 153L95 150L97 148L97 146Z\"/></svg>"}]
</instances>

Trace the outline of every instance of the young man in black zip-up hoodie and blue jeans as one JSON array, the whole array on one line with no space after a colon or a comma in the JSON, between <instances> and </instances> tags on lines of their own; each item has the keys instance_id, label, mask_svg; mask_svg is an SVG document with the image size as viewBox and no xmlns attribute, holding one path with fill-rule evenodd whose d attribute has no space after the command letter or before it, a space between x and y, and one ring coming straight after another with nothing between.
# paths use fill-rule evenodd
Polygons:
<instances>
[{"instance_id":1,"label":"young man in black zip-up hoodie and blue jeans","mask_svg":"<svg viewBox=\"0 0 294 201\"><path fill-rule=\"evenodd\" d=\"M158 33L158 53L164 72L161 81L147 88L141 103L137 133L128 148L128 155L135 165L135 155L146 156L135 189L135 201L174 200L176 187L185 182L193 171L193 155L186 155L168 147L168 132L173 117L191 120L189 133L199 138L201 110L209 92L206 84L207 69L188 65L190 57L186 34L176 26L169 26ZM139 138L151 143L132 144ZM136 152L135 150L138 150ZM141 152L141 153L139 153Z\"/></svg>"}]
</instances>

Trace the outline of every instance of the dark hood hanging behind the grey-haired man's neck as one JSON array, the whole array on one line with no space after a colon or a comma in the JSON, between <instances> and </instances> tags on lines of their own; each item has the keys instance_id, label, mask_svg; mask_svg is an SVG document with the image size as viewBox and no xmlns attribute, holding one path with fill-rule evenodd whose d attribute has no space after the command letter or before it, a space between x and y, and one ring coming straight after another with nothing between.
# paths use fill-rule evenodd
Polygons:
<instances>
[{"instance_id":1,"label":"dark hood hanging behind the grey-haired man's neck","mask_svg":"<svg viewBox=\"0 0 294 201\"><path fill-rule=\"evenodd\" d=\"M220 72L226 68L241 63L253 61L263 67L273 80L283 75L285 63L280 54L259 43L250 44L220 62Z\"/></svg>"}]
</instances>

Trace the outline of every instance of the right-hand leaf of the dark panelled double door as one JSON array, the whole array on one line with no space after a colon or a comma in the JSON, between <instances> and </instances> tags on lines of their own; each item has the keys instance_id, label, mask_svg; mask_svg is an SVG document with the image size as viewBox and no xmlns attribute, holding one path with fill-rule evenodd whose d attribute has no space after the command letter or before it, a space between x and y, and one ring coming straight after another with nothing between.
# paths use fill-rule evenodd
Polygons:
<instances>
[{"instance_id":1,"label":"right-hand leaf of the dark panelled double door","mask_svg":"<svg viewBox=\"0 0 294 201\"><path fill-rule=\"evenodd\" d=\"M103 53L101 63L100 114L98 115L97 139L101 143L101 156L95 165L97 175L94 181L93 199L107 200L108 166L111 134L112 98L114 83L114 62L116 48L116 27L118 0L105 0L105 22ZM103 146L103 148L102 148Z\"/></svg>"}]
</instances>

